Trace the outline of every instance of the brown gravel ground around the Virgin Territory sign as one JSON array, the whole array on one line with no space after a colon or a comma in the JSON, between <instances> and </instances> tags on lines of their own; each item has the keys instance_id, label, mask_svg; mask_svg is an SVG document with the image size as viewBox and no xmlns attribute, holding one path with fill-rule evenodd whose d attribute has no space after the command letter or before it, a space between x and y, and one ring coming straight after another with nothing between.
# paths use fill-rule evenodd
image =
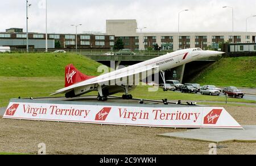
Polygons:
<instances>
[{"instance_id":1,"label":"brown gravel ground around the Virgin Territory sign","mask_svg":"<svg viewBox=\"0 0 256 166\"><path fill-rule=\"evenodd\" d=\"M256 125L255 107L225 107L241 124ZM45 143L48 154L205 154L209 143L162 138L170 128L100 126L98 124L37 122L0 117L0 152L37 153ZM218 154L254 154L256 143L221 143Z\"/></svg>"}]
</instances>

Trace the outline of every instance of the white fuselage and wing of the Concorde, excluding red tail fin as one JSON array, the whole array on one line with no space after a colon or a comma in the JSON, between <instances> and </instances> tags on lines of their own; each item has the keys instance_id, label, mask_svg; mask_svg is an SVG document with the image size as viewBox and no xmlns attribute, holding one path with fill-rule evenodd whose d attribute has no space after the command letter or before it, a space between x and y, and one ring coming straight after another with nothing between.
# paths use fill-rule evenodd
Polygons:
<instances>
[{"instance_id":1,"label":"white fuselage and wing of the Concorde, excluding red tail fin","mask_svg":"<svg viewBox=\"0 0 256 166\"><path fill-rule=\"evenodd\" d=\"M168 53L167 55L156 57L154 59L147 60L142 63L138 63L126 68L118 69L110 73L102 74L101 76L91 78L90 80L79 82L77 84L68 86L67 88L58 90L55 94L68 93L68 92L71 92L71 90L74 90L75 94L72 94L72 95L80 96L82 94L91 92L93 90L98 90L98 86L100 86L99 84L100 82L105 82L105 81L108 82L108 81L113 81L117 78L129 77L134 74L141 73L140 71L145 71L147 69L150 70L153 68L158 68L159 71L162 71L162 70L164 71L164 70L179 67L180 65L184 65L202 58L218 56L218 55L221 55L222 53L224 52L203 51L200 48L181 49L179 51L171 52L171 53ZM147 76L145 75L142 76L141 80L144 80L146 77ZM115 93L121 92L122 88L118 89L117 82L114 82L114 85L110 83L109 86L104 85L104 88L102 89L108 89L108 90L111 89L109 90L109 94L115 94Z\"/></svg>"}]
</instances>

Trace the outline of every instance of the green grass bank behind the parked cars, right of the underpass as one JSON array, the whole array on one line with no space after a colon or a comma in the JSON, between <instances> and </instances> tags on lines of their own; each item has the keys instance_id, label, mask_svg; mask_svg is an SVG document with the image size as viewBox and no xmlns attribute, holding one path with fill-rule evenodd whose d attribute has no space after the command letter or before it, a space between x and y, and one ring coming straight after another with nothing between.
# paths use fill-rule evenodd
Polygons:
<instances>
[{"instance_id":1,"label":"green grass bank behind the parked cars, right of the underpass","mask_svg":"<svg viewBox=\"0 0 256 166\"><path fill-rule=\"evenodd\" d=\"M256 88L256 57L222 58L195 78L201 85Z\"/></svg>"}]
</instances>

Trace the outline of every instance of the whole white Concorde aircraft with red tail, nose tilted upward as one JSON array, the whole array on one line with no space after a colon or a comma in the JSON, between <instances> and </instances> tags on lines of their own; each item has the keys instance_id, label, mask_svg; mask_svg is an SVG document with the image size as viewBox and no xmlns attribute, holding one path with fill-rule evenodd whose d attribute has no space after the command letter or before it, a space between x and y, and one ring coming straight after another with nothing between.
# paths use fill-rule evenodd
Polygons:
<instances>
[{"instance_id":1,"label":"whole white Concorde aircraft with red tail, nose tilted upward","mask_svg":"<svg viewBox=\"0 0 256 166\"><path fill-rule=\"evenodd\" d=\"M97 100L106 101L108 96L112 94L125 92L123 99L132 99L133 97L129 94L129 91L134 90L136 87L136 81L134 81L136 76L138 76L139 81L142 81L150 76L150 74L143 73L151 73L152 75L152 71L155 70L159 71L165 82L164 73L166 70L202 58L220 56L223 53L225 52L203 51L201 48L181 49L97 77L86 76L70 64L65 68L65 88L57 90L51 95L63 93L66 98L73 98L97 91Z\"/></svg>"}]
</instances>

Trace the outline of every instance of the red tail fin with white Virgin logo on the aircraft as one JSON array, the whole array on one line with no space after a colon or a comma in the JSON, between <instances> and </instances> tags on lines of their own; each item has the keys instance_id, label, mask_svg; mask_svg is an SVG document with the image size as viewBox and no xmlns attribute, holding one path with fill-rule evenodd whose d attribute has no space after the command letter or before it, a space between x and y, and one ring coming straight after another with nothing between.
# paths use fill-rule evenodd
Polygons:
<instances>
[{"instance_id":1,"label":"red tail fin with white Virgin logo on the aircraft","mask_svg":"<svg viewBox=\"0 0 256 166\"><path fill-rule=\"evenodd\" d=\"M77 70L73 64L69 64L65 68L65 87L89 80L90 78L94 78L94 76L86 76L85 74L79 72L79 70Z\"/></svg>"}]
</instances>

